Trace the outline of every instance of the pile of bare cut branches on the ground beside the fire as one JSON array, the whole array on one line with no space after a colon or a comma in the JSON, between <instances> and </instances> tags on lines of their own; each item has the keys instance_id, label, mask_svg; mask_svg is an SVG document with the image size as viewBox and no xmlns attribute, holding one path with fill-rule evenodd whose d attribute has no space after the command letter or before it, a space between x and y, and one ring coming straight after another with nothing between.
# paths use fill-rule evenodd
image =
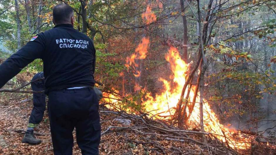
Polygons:
<instances>
[{"instance_id":1,"label":"pile of bare cut branches on the ground beside the fire","mask_svg":"<svg viewBox=\"0 0 276 155\"><path fill-rule=\"evenodd\" d=\"M181 143L192 143L194 145L200 146L201 149L205 150L206 154L225 154L225 155L236 155L238 152L223 144L222 141L214 139L214 136L208 132L198 132L191 130L181 130L173 126L169 126L165 121L157 121L147 117L147 113L135 115L127 112L115 112L110 111L105 107L100 109L101 115L117 115L123 119L130 119L133 123L130 126L116 127L110 126L102 131L102 135L109 132L118 132L120 130L129 130L130 132L135 132L137 135L144 137L158 137L159 139L181 142ZM203 138L204 137L204 138ZM156 150L161 151L162 154L184 154L185 148L180 149L174 146L161 146L158 142L153 140L147 141L137 141L129 140L136 144L152 144ZM187 152L186 152L187 153Z\"/></svg>"}]
</instances>

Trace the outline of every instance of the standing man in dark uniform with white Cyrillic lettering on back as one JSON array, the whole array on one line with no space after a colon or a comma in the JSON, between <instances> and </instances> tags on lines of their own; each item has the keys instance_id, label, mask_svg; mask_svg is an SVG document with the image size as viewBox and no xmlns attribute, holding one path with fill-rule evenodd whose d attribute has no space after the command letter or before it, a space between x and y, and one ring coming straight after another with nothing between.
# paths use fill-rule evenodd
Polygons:
<instances>
[{"instance_id":1,"label":"standing man in dark uniform with white Cyrillic lettering on back","mask_svg":"<svg viewBox=\"0 0 276 155\"><path fill-rule=\"evenodd\" d=\"M73 28L73 9L53 8L55 27L33 37L0 65L0 88L35 59L43 60L48 112L55 155L73 154L73 130L83 155L98 155L99 102L92 40Z\"/></svg>"}]
</instances>

